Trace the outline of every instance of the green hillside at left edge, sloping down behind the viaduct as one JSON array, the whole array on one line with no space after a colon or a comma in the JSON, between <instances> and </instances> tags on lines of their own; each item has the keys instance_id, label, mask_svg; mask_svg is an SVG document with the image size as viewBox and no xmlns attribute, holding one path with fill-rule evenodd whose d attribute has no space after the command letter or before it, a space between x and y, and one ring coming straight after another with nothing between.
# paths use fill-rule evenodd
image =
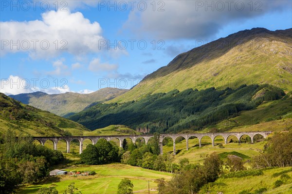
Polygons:
<instances>
[{"instance_id":1,"label":"green hillside at left edge, sloping down behind the viaduct","mask_svg":"<svg viewBox=\"0 0 292 194\"><path fill-rule=\"evenodd\" d=\"M11 129L33 136L61 136L88 131L84 126L53 113L22 104L0 93L0 133ZM73 130L72 130L73 129Z\"/></svg>"}]
</instances>

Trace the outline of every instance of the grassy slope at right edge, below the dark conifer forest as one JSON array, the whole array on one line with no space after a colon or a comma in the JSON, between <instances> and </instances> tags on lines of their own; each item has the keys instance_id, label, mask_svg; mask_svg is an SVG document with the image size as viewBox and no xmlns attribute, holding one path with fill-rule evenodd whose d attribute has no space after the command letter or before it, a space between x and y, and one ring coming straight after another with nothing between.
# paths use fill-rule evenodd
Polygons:
<instances>
[{"instance_id":1,"label":"grassy slope at right edge, below the dark conifer forest","mask_svg":"<svg viewBox=\"0 0 292 194\"><path fill-rule=\"evenodd\" d=\"M282 131L292 129L292 93L279 100L265 101L256 109L223 120L215 126L231 131Z\"/></svg>"}]
</instances>

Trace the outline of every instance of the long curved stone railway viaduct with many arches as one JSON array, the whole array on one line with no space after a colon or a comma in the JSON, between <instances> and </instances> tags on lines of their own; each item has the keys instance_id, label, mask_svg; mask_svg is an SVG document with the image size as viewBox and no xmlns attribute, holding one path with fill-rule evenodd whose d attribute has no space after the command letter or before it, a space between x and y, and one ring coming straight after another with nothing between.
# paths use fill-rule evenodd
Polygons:
<instances>
[{"instance_id":1,"label":"long curved stone railway viaduct with many arches","mask_svg":"<svg viewBox=\"0 0 292 194\"><path fill-rule=\"evenodd\" d=\"M240 138L243 135L248 135L251 138L252 143L254 143L254 137L257 134L262 135L264 138L266 138L269 134L271 134L272 131L256 131L256 132L228 132L228 133L193 133L193 134L160 134L159 137L159 147L160 147L160 153L163 154L162 150L162 141L165 137L170 137L173 140L173 154L175 155L175 140L178 137L183 137L186 140L186 150L188 150L188 140L191 137L197 137L199 139L199 146L201 147L201 139L204 136L210 137L212 140L212 146L214 146L214 141L217 136L221 136L224 139L225 144L227 144L227 138L231 135L234 135L237 137L238 142L240 143ZM143 138L145 140L145 143L148 143L148 140L153 137L153 135L107 135L107 136L69 136L69 137L33 137L34 140L37 140L41 145L45 145L46 141L52 141L54 144L54 149L57 149L58 141L65 140L67 143L67 153L70 153L70 143L72 140L78 140L79 141L79 154L82 153L82 146L83 141L86 139L90 139L92 144L96 144L96 142L99 139L106 139L107 141L111 141L114 139L118 139L120 142L120 147L123 146L123 140L126 138L130 138L133 143L135 144L136 140L138 138Z\"/></svg>"}]
</instances>

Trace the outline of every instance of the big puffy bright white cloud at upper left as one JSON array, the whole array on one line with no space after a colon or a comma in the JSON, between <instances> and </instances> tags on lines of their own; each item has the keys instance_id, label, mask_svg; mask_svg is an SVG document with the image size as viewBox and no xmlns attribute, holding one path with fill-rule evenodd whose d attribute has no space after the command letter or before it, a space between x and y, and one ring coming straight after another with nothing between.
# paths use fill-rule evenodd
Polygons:
<instances>
[{"instance_id":1,"label":"big puffy bright white cloud at upper left","mask_svg":"<svg viewBox=\"0 0 292 194\"><path fill-rule=\"evenodd\" d=\"M80 12L49 11L41 16L41 20L0 22L1 55L28 52L35 59L99 51L99 40L104 39L99 23L91 23Z\"/></svg>"}]
</instances>

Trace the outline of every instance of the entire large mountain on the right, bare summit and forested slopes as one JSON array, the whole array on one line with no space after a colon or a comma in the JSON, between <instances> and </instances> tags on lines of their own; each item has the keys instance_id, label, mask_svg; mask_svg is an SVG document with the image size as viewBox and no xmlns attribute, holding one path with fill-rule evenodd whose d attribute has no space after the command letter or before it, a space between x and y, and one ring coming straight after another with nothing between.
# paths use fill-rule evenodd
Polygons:
<instances>
[{"instance_id":1,"label":"entire large mountain on the right, bare summit and forested slopes","mask_svg":"<svg viewBox=\"0 0 292 194\"><path fill-rule=\"evenodd\" d=\"M290 128L291 57L292 29L240 31L178 55L127 93L69 118L91 130L227 131L284 118Z\"/></svg>"}]
</instances>

